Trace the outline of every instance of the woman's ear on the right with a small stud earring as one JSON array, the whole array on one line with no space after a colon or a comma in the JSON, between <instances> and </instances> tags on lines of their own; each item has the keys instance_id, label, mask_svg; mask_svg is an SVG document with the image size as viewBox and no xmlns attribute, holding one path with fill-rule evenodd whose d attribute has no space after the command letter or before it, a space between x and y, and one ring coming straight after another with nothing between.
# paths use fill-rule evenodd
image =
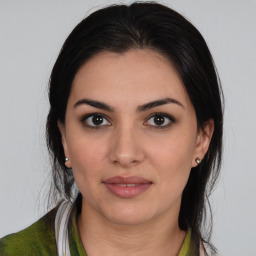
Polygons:
<instances>
[{"instance_id":1,"label":"woman's ear on the right with a small stud earring","mask_svg":"<svg viewBox=\"0 0 256 256\"><path fill-rule=\"evenodd\" d=\"M200 160L204 158L210 146L213 132L214 132L214 121L213 119L209 119L204 124L204 126L198 131L194 157L192 159L192 167L195 167L198 165L198 163L196 162L197 158L199 158Z\"/></svg>"}]
</instances>

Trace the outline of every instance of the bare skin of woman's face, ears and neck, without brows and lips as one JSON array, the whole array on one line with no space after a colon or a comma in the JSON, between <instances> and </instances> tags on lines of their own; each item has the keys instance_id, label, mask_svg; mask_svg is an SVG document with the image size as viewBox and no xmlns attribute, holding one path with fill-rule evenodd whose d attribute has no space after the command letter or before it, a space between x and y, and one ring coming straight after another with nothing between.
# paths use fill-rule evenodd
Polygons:
<instances>
[{"instance_id":1,"label":"bare skin of woman's face, ears and neck, without brows and lips","mask_svg":"<svg viewBox=\"0 0 256 256\"><path fill-rule=\"evenodd\" d=\"M178 103L137 110L167 97ZM113 111L74 106L85 98ZM163 117L163 128L152 117L159 112L172 117ZM83 118L91 113L104 115L97 129L91 118ZM83 197L78 228L86 252L177 255L186 235L178 226L182 191L195 159L207 152L213 121L198 129L194 107L171 63L146 49L97 54L76 74L65 124L58 125L66 166L72 167ZM102 183L113 176L139 176L152 185L124 199Z\"/></svg>"}]
</instances>

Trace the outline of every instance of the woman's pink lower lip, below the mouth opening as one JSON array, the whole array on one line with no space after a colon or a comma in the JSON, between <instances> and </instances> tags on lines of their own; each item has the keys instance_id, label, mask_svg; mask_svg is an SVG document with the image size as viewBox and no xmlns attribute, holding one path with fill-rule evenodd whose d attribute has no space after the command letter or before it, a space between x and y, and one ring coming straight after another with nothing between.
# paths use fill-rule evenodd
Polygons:
<instances>
[{"instance_id":1,"label":"woman's pink lower lip, below the mouth opening","mask_svg":"<svg viewBox=\"0 0 256 256\"><path fill-rule=\"evenodd\" d=\"M143 184L135 184L132 187L121 187L114 183L104 183L105 186L112 192L114 195L121 198L131 198L135 197L144 191L146 191L152 184L151 183L143 183Z\"/></svg>"}]
</instances>

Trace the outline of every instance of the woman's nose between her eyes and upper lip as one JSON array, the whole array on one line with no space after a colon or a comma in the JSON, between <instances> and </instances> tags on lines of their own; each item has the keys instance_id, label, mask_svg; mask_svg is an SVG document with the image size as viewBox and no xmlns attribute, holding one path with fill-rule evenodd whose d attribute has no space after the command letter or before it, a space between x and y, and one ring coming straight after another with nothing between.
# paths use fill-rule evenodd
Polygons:
<instances>
[{"instance_id":1,"label":"woman's nose between her eyes and upper lip","mask_svg":"<svg viewBox=\"0 0 256 256\"><path fill-rule=\"evenodd\" d=\"M110 149L110 160L124 168L135 166L145 158L143 143L136 129L123 127L113 134Z\"/></svg>"}]
</instances>

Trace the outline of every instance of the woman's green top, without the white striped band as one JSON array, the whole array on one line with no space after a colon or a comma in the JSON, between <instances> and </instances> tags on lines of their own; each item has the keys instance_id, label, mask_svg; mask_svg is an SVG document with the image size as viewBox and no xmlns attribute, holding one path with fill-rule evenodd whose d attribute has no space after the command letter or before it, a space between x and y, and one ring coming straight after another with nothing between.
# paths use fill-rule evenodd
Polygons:
<instances>
[{"instance_id":1,"label":"woman's green top, without the white striped band","mask_svg":"<svg viewBox=\"0 0 256 256\"><path fill-rule=\"evenodd\" d=\"M56 212L57 207L28 228L0 239L0 256L57 255L54 236ZM71 255L86 256L77 228L76 212L72 213L69 224L70 252ZM196 243L189 230L178 256L198 255L198 249L196 248Z\"/></svg>"}]
</instances>

